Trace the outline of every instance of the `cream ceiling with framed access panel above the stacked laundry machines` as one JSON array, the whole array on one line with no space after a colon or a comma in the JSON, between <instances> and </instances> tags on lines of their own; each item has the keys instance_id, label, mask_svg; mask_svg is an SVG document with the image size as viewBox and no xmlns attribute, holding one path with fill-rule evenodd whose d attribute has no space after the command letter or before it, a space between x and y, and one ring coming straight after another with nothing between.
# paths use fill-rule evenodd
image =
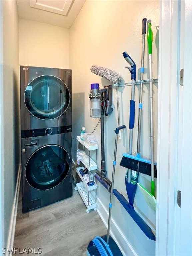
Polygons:
<instances>
[{"instance_id":1,"label":"cream ceiling with framed access panel above the stacked laundry machines","mask_svg":"<svg viewBox=\"0 0 192 256\"><path fill-rule=\"evenodd\" d=\"M17 0L21 19L70 28L86 0Z\"/></svg>"}]
</instances>

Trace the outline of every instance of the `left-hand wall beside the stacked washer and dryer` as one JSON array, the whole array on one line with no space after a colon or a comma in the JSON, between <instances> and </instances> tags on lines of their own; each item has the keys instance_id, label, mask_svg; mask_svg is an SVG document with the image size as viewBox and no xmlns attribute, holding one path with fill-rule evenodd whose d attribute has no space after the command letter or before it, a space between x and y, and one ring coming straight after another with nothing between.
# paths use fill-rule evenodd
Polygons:
<instances>
[{"instance_id":1,"label":"left-hand wall beside the stacked washer and dryer","mask_svg":"<svg viewBox=\"0 0 192 256\"><path fill-rule=\"evenodd\" d=\"M19 138L19 49L18 15L16 1L0 1L1 15L1 219L0 250L7 246L11 225L11 214L16 189L16 178L20 163ZM2 240L1 240L2 238ZM2 245L2 246L1 246Z\"/></svg>"}]
</instances>

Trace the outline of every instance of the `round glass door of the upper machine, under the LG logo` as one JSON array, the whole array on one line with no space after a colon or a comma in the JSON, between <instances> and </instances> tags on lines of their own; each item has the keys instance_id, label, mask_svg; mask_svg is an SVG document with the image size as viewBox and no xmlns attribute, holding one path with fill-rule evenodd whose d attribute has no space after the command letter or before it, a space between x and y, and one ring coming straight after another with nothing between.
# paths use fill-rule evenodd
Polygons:
<instances>
[{"instance_id":1,"label":"round glass door of the upper machine, under the LG logo","mask_svg":"<svg viewBox=\"0 0 192 256\"><path fill-rule=\"evenodd\" d=\"M44 120L55 119L67 110L70 93L61 79L43 75L27 85L24 101L33 116Z\"/></svg>"}]
</instances>

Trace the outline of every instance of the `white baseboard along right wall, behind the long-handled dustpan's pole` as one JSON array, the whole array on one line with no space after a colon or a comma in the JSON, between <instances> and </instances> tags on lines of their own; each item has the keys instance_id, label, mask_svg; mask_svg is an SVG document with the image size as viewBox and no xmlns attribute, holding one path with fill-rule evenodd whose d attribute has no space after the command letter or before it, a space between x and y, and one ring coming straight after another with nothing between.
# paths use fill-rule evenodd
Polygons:
<instances>
[{"instance_id":1,"label":"white baseboard along right wall, behind the long-handled dustpan's pole","mask_svg":"<svg viewBox=\"0 0 192 256\"><path fill-rule=\"evenodd\" d=\"M97 197L97 212L99 216L101 217L103 223L107 227L108 224L108 214L109 211L105 208L105 206L102 204L100 199ZM110 224L110 236L114 239L117 246L121 250L122 254L124 256L137 256L137 253L132 248L124 234L119 229L118 225L115 223L113 218L111 218L111 224Z\"/></svg>"}]
</instances>

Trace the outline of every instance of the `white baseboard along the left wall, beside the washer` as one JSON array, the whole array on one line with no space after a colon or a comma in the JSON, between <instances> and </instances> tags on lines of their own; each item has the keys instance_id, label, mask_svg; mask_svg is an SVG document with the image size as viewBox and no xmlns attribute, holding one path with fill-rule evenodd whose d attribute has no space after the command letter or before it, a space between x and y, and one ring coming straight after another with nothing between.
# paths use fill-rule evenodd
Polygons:
<instances>
[{"instance_id":1,"label":"white baseboard along the left wall, beside the washer","mask_svg":"<svg viewBox=\"0 0 192 256\"><path fill-rule=\"evenodd\" d=\"M16 183L16 188L15 188L15 197L14 197L12 214L11 214L11 222L10 222L10 228L9 228L7 248L13 248L13 243L14 243L20 181L21 181L21 164L19 165L19 170L18 170L18 174L17 174L17 183ZM8 255L12 256L12 254L8 253L8 251L7 251L6 256L8 256Z\"/></svg>"}]
</instances>

